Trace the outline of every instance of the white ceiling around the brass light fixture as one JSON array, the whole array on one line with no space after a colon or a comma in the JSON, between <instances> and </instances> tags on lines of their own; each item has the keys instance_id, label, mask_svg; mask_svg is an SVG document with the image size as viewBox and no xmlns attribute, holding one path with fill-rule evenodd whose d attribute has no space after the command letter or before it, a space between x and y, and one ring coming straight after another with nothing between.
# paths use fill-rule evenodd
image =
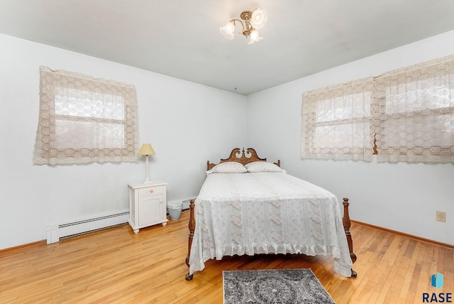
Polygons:
<instances>
[{"instance_id":1,"label":"white ceiling around the brass light fixture","mask_svg":"<svg viewBox=\"0 0 454 304\"><path fill-rule=\"evenodd\" d=\"M453 0L0 0L0 33L244 95L451 30Z\"/></svg>"}]
</instances>

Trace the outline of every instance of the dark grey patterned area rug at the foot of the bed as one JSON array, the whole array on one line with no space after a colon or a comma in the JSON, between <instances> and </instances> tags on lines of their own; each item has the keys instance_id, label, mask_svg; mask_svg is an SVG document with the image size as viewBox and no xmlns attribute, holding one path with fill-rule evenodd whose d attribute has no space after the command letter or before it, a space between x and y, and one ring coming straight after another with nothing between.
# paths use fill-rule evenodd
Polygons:
<instances>
[{"instance_id":1,"label":"dark grey patterned area rug at the foot of the bed","mask_svg":"<svg viewBox=\"0 0 454 304\"><path fill-rule=\"evenodd\" d=\"M334 303L311 269L223 271L224 304Z\"/></svg>"}]
</instances>

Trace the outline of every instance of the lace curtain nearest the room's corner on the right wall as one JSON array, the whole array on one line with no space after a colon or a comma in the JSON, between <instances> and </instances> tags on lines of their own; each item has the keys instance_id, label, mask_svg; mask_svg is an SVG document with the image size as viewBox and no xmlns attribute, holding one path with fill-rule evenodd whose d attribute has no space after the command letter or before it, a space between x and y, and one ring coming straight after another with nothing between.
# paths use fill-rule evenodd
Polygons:
<instances>
[{"instance_id":1,"label":"lace curtain nearest the room's corner on the right wall","mask_svg":"<svg viewBox=\"0 0 454 304\"><path fill-rule=\"evenodd\" d=\"M372 77L305 92L302 158L371 161Z\"/></svg>"}]
</instances>

